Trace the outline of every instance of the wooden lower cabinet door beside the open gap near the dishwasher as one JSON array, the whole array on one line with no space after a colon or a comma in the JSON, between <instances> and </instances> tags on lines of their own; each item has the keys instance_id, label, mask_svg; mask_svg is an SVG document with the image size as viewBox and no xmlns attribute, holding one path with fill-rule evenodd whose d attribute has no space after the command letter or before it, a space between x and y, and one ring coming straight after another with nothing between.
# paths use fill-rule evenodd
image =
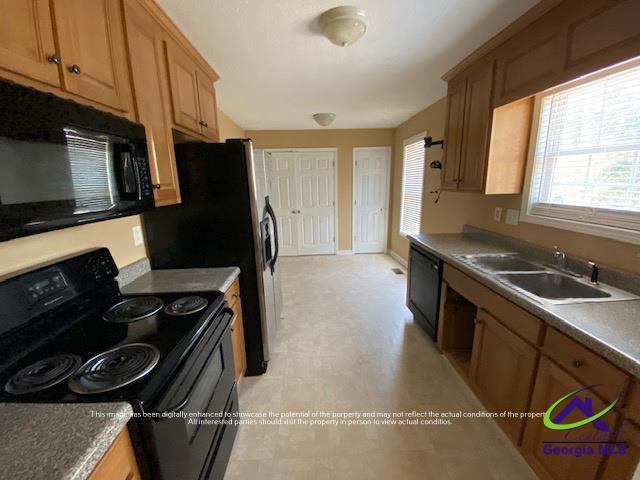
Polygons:
<instances>
[{"instance_id":1,"label":"wooden lower cabinet door beside the open gap near the dishwasher","mask_svg":"<svg viewBox=\"0 0 640 480\"><path fill-rule=\"evenodd\" d=\"M484 310L478 311L470 377L488 410L525 412L536 368L537 350ZM524 421L498 419L518 444Z\"/></svg>"}]
</instances>

